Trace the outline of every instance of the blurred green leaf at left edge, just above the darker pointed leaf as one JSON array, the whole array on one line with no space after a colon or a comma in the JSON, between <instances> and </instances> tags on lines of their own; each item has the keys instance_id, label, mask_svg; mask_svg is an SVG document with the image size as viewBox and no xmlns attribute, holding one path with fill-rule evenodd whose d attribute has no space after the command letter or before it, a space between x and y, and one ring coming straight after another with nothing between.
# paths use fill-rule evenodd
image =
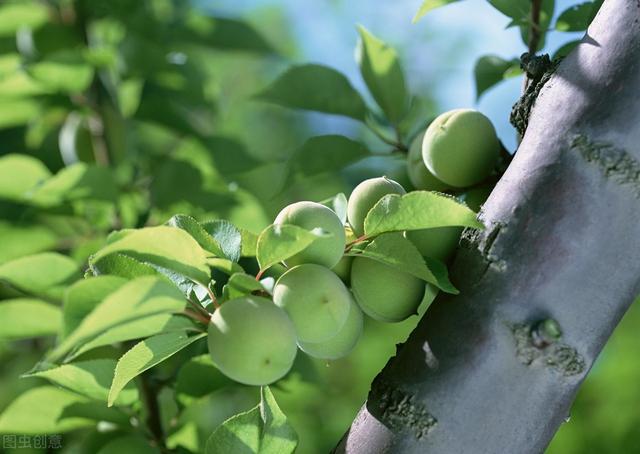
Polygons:
<instances>
[{"instance_id":1,"label":"blurred green leaf at left edge, just above the darker pointed leaf","mask_svg":"<svg viewBox=\"0 0 640 454\"><path fill-rule=\"evenodd\" d=\"M0 264L53 249L58 244L57 235L42 225L19 225L0 221L0 238Z\"/></svg>"}]
</instances>

